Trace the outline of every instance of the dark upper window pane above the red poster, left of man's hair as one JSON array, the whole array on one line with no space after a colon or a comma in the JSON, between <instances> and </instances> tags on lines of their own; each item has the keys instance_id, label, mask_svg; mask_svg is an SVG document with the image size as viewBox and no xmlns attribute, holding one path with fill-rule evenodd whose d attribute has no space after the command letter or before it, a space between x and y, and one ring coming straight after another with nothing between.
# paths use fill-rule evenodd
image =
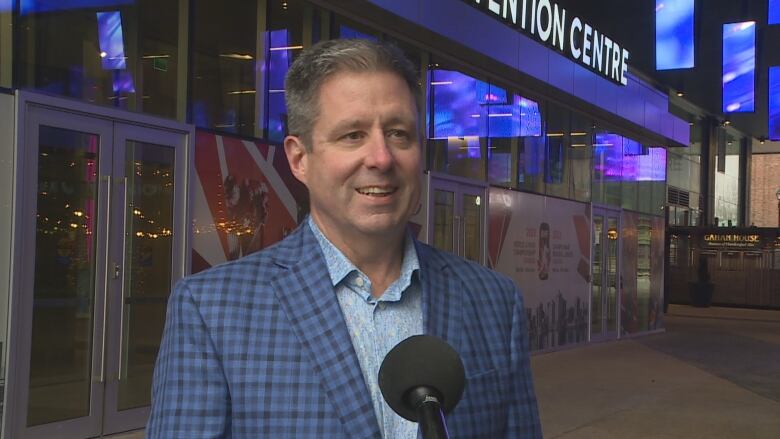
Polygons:
<instances>
[{"instance_id":1,"label":"dark upper window pane above the red poster, left of man's hair","mask_svg":"<svg viewBox=\"0 0 780 439\"><path fill-rule=\"evenodd\" d=\"M254 136L257 2L195 0L191 7L192 122Z\"/></svg>"}]
</instances>

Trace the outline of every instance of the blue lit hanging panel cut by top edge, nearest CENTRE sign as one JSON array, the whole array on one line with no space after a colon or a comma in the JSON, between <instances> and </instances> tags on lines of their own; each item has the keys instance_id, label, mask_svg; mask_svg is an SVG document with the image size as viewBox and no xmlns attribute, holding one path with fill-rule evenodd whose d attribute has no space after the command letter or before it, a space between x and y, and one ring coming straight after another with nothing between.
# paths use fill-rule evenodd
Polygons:
<instances>
[{"instance_id":1,"label":"blue lit hanging panel cut by top edge, nearest CENTRE sign","mask_svg":"<svg viewBox=\"0 0 780 439\"><path fill-rule=\"evenodd\" d=\"M694 0L655 0L655 68L689 69L695 66Z\"/></svg>"}]
</instances>

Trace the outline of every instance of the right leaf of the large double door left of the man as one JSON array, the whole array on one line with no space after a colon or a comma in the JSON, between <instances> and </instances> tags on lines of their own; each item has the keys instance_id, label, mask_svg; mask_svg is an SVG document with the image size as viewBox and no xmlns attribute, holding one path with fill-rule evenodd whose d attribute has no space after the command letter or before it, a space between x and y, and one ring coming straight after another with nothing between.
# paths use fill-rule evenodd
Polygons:
<instances>
[{"instance_id":1,"label":"right leaf of the large double door left of the man","mask_svg":"<svg viewBox=\"0 0 780 439\"><path fill-rule=\"evenodd\" d=\"M180 133L115 124L104 434L143 426L149 415L168 295L183 267L174 251L183 141Z\"/></svg>"}]
</instances>

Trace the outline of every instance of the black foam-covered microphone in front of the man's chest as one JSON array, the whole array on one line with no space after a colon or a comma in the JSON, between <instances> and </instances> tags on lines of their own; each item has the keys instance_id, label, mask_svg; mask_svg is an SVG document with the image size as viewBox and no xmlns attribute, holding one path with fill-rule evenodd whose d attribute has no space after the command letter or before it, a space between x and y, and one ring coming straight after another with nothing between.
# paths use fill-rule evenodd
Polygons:
<instances>
[{"instance_id":1,"label":"black foam-covered microphone in front of the man's chest","mask_svg":"<svg viewBox=\"0 0 780 439\"><path fill-rule=\"evenodd\" d=\"M387 353L379 389L401 417L420 424L424 439L448 439L444 415L463 396L466 373L455 349L432 335L414 335Z\"/></svg>"}]
</instances>

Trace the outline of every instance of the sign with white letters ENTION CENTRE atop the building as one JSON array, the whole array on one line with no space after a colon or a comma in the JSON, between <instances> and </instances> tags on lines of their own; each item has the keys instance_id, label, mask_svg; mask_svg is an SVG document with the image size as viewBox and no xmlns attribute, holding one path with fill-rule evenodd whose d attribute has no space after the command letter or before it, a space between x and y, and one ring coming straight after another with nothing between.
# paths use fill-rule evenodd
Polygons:
<instances>
[{"instance_id":1,"label":"sign with white letters ENTION CENTRE atop the building","mask_svg":"<svg viewBox=\"0 0 780 439\"><path fill-rule=\"evenodd\" d=\"M465 0L514 29L622 85L629 52L550 0Z\"/></svg>"}]
</instances>

